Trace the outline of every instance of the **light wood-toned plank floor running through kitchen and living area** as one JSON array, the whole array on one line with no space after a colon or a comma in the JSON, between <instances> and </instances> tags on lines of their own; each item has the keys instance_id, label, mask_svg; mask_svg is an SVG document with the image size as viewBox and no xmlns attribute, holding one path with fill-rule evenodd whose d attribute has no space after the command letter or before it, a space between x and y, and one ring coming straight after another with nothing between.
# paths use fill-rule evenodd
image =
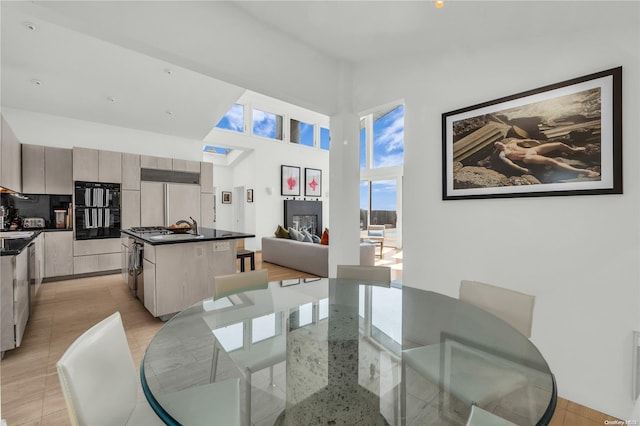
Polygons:
<instances>
[{"instance_id":1,"label":"light wood-toned plank floor running through kitchen and living area","mask_svg":"<svg viewBox=\"0 0 640 426\"><path fill-rule=\"evenodd\" d=\"M385 248L378 264L392 267L392 278L402 279L402 253ZM309 278L313 275L263 263L269 280ZM55 364L67 347L87 328L120 311L136 365L163 322L153 318L134 299L120 275L105 275L44 284L33 306L20 348L2 360L2 418L8 426L63 426L70 424ZM142 397L142 396L141 396ZM551 422L554 426L601 426L613 417L560 399Z\"/></svg>"}]
</instances>

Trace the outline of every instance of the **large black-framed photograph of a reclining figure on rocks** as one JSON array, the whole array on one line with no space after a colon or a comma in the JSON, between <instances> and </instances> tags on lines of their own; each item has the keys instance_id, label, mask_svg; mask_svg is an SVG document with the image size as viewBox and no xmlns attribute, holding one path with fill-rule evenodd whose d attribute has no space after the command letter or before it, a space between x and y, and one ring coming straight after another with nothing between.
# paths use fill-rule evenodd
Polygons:
<instances>
[{"instance_id":1,"label":"large black-framed photograph of a reclining figure on rocks","mask_svg":"<svg viewBox=\"0 0 640 426\"><path fill-rule=\"evenodd\" d=\"M622 67L442 114L442 199L622 194Z\"/></svg>"}]
</instances>

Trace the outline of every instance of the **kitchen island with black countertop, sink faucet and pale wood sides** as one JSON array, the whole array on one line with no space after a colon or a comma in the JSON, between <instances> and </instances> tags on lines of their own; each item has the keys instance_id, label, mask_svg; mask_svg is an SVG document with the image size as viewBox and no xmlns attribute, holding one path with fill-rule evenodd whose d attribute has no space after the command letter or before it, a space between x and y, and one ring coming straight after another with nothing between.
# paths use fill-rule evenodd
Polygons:
<instances>
[{"instance_id":1,"label":"kitchen island with black countertop, sink faucet and pale wood sides","mask_svg":"<svg viewBox=\"0 0 640 426\"><path fill-rule=\"evenodd\" d=\"M123 229L121 235L122 277L163 320L213 297L213 277L236 272L236 240L255 237L212 228L181 234L161 227Z\"/></svg>"}]
</instances>

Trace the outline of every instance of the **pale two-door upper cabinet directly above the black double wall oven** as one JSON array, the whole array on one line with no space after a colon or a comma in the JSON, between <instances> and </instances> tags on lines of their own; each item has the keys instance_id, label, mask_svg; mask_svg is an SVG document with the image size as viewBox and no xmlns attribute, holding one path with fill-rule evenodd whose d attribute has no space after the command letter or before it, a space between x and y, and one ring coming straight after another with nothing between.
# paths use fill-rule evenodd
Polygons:
<instances>
[{"instance_id":1,"label":"pale two-door upper cabinet directly above the black double wall oven","mask_svg":"<svg viewBox=\"0 0 640 426\"><path fill-rule=\"evenodd\" d=\"M122 182L122 153L91 148L73 148L73 180Z\"/></svg>"}]
</instances>

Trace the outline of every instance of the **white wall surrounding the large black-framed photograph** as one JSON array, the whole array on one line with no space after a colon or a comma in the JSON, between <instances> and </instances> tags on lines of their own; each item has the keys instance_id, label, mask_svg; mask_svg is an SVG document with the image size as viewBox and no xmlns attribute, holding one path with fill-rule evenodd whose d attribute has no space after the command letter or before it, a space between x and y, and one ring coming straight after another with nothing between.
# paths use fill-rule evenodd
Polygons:
<instances>
[{"instance_id":1,"label":"white wall surrounding the large black-framed photograph","mask_svg":"<svg viewBox=\"0 0 640 426\"><path fill-rule=\"evenodd\" d=\"M640 329L640 3L589 31L383 61L354 75L356 110L404 98L404 284L457 296L461 279L536 295L532 340L561 397L622 419ZM533 25L524 19L523 27ZM596 25L597 23L597 25ZM623 66L624 195L441 200L441 114ZM420 196L415 196L420 194Z\"/></svg>"}]
</instances>

